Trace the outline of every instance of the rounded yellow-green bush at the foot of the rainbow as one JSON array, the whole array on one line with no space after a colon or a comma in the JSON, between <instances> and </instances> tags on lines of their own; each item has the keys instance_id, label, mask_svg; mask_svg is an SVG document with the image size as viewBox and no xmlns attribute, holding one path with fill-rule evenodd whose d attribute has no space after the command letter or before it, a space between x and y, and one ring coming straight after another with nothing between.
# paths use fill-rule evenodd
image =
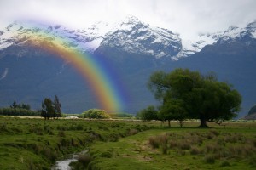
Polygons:
<instances>
[{"instance_id":1,"label":"rounded yellow-green bush at the foot of the rainbow","mask_svg":"<svg viewBox=\"0 0 256 170\"><path fill-rule=\"evenodd\" d=\"M90 109L88 111L84 111L83 116L84 118L91 118L91 119L109 119L110 118L107 111L99 110L99 109Z\"/></svg>"}]
</instances>

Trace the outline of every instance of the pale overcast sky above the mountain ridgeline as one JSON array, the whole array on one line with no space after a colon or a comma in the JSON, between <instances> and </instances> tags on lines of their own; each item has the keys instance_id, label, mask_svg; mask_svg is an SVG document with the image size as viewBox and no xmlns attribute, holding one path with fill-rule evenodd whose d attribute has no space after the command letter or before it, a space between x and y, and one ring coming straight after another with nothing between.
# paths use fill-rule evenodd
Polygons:
<instances>
[{"instance_id":1,"label":"pale overcast sky above the mountain ridgeline","mask_svg":"<svg viewBox=\"0 0 256 170\"><path fill-rule=\"evenodd\" d=\"M245 26L256 19L256 0L0 0L1 28L14 20L85 27L126 15L189 38Z\"/></svg>"}]
</instances>

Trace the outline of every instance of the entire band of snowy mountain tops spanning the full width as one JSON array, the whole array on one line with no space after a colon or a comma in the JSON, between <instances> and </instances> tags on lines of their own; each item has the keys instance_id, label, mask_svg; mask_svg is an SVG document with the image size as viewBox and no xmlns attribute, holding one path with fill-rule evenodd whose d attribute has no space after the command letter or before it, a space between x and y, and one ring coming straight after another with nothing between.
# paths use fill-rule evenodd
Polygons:
<instances>
[{"instance_id":1,"label":"entire band of snowy mountain tops spanning the full width","mask_svg":"<svg viewBox=\"0 0 256 170\"><path fill-rule=\"evenodd\" d=\"M94 53L97 48L104 46L131 54L154 56L156 59L170 57L178 60L217 42L236 41L246 36L256 38L255 30L256 20L243 28L230 26L224 32L200 34L192 41L182 40L170 30L149 26L134 16L114 24L96 22L88 28L77 30L61 25L14 22L0 31L0 50L11 45L49 41L59 48L81 52Z\"/></svg>"}]
</instances>

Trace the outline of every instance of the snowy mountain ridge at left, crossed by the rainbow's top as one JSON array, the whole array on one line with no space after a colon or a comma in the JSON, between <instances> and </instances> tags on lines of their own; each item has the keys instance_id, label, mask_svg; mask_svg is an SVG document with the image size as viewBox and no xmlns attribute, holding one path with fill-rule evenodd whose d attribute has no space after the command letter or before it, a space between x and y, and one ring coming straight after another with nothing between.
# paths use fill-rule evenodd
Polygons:
<instances>
[{"instance_id":1,"label":"snowy mountain ridge at left, crossed by the rainbow's top","mask_svg":"<svg viewBox=\"0 0 256 170\"><path fill-rule=\"evenodd\" d=\"M0 32L0 49L26 43L37 45L48 41L60 46L59 48L93 52L99 47L104 36L104 32L99 31L98 26L89 27L87 30L70 30L61 25L49 26L16 21L7 26L5 31Z\"/></svg>"}]
</instances>

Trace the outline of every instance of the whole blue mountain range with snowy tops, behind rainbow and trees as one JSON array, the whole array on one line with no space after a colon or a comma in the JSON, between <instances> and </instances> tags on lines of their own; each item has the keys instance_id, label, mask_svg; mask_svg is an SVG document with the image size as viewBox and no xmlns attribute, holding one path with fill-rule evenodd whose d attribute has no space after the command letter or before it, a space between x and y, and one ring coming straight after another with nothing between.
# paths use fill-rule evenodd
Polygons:
<instances>
[{"instance_id":1,"label":"whole blue mountain range with snowy tops, behind rainbow and trees","mask_svg":"<svg viewBox=\"0 0 256 170\"><path fill-rule=\"evenodd\" d=\"M173 31L149 26L134 16L113 25L96 22L77 30L15 21L0 31L0 106L17 100L39 109L42 99L55 94L64 112L79 113L99 106L72 65L35 48L43 42L111 63L130 96L125 112L157 105L147 88L148 77L154 71L177 67L214 71L219 80L233 84L243 97L240 116L256 101L256 20L245 27L200 34L196 41L183 40Z\"/></svg>"}]
</instances>

